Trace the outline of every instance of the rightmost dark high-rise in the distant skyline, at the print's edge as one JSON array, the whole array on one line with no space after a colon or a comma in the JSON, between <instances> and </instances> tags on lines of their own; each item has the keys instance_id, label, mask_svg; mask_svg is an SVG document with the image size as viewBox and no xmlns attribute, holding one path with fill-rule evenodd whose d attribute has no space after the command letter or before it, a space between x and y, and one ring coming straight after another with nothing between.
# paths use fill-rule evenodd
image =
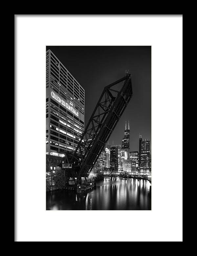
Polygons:
<instances>
[{"instance_id":1,"label":"rightmost dark high-rise in the distant skyline, at the print's edge","mask_svg":"<svg viewBox=\"0 0 197 256\"><path fill-rule=\"evenodd\" d=\"M151 172L150 141L147 139L142 141L142 136L139 138L139 169L142 173Z\"/></svg>"}]
</instances>

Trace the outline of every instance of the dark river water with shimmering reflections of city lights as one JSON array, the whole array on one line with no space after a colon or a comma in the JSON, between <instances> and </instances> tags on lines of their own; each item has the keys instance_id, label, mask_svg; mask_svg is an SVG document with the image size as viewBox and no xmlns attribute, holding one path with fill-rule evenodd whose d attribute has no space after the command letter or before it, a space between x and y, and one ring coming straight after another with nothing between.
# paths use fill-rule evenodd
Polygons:
<instances>
[{"instance_id":1,"label":"dark river water with shimmering reflections of city lights","mask_svg":"<svg viewBox=\"0 0 197 256\"><path fill-rule=\"evenodd\" d=\"M85 194L46 193L46 210L151 210L151 183L142 179L104 178Z\"/></svg>"}]
</instances>

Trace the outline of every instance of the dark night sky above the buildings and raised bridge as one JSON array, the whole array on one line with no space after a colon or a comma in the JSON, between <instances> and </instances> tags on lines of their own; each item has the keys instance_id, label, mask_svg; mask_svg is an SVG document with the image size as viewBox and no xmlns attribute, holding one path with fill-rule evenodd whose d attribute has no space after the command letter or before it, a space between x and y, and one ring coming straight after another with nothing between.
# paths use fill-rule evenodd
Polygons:
<instances>
[{"instance_id":1,"label":"dark night sky above the buildings and raised bridge","mask_svg":"<svg viewBox=\"0 0 197 256\"><path fill-rule=\"evenodd\" d=\"M103 88L131 74L133 96L109 144L120 144L125 121L130 124L130 150L139 150L142 139L151 140L151 46L46 46L51 49L85 90L85 126Z\"/></svg>"}]
</instances>

